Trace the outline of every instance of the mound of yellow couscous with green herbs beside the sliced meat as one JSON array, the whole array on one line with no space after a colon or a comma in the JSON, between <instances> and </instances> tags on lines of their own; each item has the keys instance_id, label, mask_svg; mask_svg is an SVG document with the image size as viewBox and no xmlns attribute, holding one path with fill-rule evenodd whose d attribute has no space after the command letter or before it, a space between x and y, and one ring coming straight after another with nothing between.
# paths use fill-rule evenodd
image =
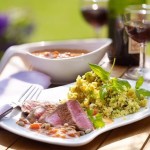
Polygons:
<instances>
[{"instance_id":1,"label":"mound of yellow couscous with green herbs beside the sliced meat","mask_svg":"<svg viewBox=\"0 0 150 150\"><path fill-rule=\"evenodd\" d=\"M118 86L118 81L117 78L103 80L94 71L87 72L77 77L68 98L78 100L84 110L97 110L102 117L111 119L135 113L146 106L144 95L125 84Z\"/></svg>"}]
</instances>

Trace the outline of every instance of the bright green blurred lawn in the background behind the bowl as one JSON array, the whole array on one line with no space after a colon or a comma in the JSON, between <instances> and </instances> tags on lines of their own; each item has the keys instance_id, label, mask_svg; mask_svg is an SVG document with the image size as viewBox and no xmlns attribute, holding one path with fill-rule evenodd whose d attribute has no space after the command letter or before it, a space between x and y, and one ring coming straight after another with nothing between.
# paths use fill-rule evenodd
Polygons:
<instances>
[{"instance_id":1,"label":"bright green blurred lawn in the background behind the bowl","mask_svg":"<svg viewBox=\"0 0 150 150\"><path fill-rule=\"evenodd\" d=\"M81 16L80 0L1 0L0 11L12 8L26 9L33 18L35 30L27 42L95 38ZM107 37L107 27L100 37Z\"/></svg>"}]
</instances>

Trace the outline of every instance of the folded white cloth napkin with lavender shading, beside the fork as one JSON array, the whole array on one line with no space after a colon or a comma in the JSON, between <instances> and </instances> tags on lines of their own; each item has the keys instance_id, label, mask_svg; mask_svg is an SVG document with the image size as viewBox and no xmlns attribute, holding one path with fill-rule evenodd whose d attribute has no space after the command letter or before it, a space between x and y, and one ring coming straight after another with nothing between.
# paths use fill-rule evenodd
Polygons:
<instances>
[{"instance_id":1,"label":"folded white cloth napkin with lavender shading, beside the fork","mask_svg":"<svg viewBox=\"0 0 150 150\"><path fill-rule=\"evenodd\" d=\"M0 79L0 104L19 99L31 84L46 89L51 84L51 78L38 71L21 71Z\"/></svg>"}]
</instances>

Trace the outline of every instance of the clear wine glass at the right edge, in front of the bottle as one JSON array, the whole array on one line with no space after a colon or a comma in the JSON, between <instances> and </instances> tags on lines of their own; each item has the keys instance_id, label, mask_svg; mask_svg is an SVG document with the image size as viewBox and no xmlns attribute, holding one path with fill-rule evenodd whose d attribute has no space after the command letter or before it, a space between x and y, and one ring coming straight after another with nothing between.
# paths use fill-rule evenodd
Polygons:
<instances>
[{"instance_id":1,"label":"clear wine glass at the right edge, in front of the bottle","mask_svg":"<svg viewBox=\"0 0 150 150\"><path fill-rule=\"evenodd\" d=\"M140 76L150 79L150 69L145 68L145 47L150 41L150 5L128 6L124 13L124 25L128 36L140 43L139 66L130 68L126 76L135 80Z\"/></svg>"}]
</instances>

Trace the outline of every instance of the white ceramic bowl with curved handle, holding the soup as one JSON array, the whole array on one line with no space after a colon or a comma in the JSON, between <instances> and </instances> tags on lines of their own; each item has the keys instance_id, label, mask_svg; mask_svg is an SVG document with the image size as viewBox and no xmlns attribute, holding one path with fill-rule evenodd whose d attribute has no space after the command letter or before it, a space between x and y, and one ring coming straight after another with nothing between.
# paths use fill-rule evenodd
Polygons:
<instances>
[{"instance_id":1,"label":"white ceramic bowl with curved handle, holding the soup","mask_svg":"<svg viewBox=\"0 0 150 150\"><path fill-rule=\"evenodd\" d=\"M11 57L19 56L27 65L32 66L34 70L48 74L53 84L70 83L75 81L78 75L82 75L90 70L89 63L98 64L111 43L111 39L83 39L11 46L2 57L0 72ZM31 54L35 50L49 48L86 49L90 52L82 56L62 59L48 59Z\"/></svg>"}]
</instances>

